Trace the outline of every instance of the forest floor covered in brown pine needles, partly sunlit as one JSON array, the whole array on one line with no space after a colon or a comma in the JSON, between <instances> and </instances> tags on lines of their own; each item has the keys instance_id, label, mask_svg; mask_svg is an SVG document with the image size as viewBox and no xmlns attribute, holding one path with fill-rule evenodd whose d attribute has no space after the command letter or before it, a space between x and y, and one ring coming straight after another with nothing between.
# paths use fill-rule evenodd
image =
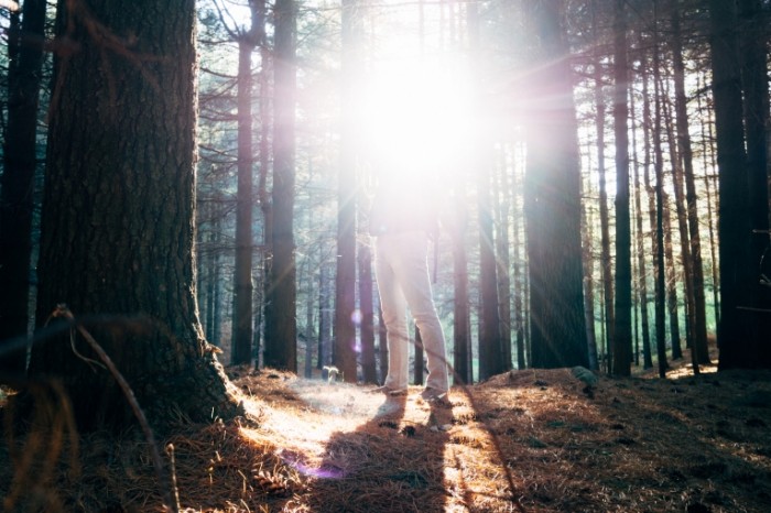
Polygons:
<instances>
[{"instance_id":1,"label":"forest floor covered in brown pine needles, partly sunlit","mask_svg":"<svg viewBox=\"0 0 771 513\"><path fill-rule=\"evenodd\" d=\"M434 405L229 369L259 422L186 425L161 454L188 513L771 511L771 372L715 371L512 371ZM141 434L42 438L0 443L6 511L163 511Z\"/></svg>"}]
</instances>

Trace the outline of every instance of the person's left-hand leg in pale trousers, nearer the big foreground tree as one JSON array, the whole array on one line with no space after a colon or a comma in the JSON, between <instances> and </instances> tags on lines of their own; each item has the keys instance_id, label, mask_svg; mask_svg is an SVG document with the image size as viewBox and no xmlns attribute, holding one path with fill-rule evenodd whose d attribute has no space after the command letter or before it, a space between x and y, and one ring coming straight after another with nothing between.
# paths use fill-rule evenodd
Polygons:
<instances>
[{"instance_id":1,"label":"person's left-hand leg in pale trousers, nearer the big foreground tree","mask_svg":"<svg viewBox=\"0 0 771 513\"><path fill-rule=\"evenodd\" d=\"M398 254L389 240L392 237L381 236L376 241L374 274L388 343L388 375L383 386L402 391L406 390L409 382L406 301L391 264L391 260Z\"/></svg>"}]
</instances>

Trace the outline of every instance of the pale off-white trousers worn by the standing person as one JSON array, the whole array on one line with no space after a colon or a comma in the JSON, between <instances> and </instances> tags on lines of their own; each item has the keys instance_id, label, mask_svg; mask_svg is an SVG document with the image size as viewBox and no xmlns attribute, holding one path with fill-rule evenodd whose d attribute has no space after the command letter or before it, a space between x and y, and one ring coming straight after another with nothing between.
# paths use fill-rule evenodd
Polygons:
<instances>
[{"instance_id":1,"label":"pale off-white trousers worn by the standing person","mask_svg":"<svg viewBox=\"0 0 771 513\"><path fill-rule=\"evenodd\" d=\"M448 389L447 356L428 279L428 239L423 231L388 233L376 239L374 272L388 341L386 386L406 389L409 334L406 308L421 330L428 360L426 388Z\"/></svg>"}]
</instances>

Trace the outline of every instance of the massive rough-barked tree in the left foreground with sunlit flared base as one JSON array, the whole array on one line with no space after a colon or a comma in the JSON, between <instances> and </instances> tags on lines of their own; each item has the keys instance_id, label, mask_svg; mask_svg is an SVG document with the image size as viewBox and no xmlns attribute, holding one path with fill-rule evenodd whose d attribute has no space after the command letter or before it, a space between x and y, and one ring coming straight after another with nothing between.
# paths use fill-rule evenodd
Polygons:
<instances>
[{"instance_id":1,"label":"massive rough-barked tree in the left foreground with sunlit flared base","mask_svg":"<svg viewBox=\"0 0 771 513\"><path fill-rule=\"evenodd\" d=\"M66 303L159 424L240 414L195 301L195 2L62 0L57 14L73 45L55 59L37 326ZM79 428L122 429L131 408L95 359L59 337L30 373L62 381Z\"/></svg>"}]
</instances>

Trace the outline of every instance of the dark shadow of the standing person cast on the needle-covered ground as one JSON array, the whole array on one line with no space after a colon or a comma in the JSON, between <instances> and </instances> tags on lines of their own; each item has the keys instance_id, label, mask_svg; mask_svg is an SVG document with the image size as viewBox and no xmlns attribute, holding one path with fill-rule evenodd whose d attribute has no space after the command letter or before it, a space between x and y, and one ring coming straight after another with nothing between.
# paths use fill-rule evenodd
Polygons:
<instances>
[{"instance_id":1,"label":"dark shadow of the standing person cast on the needle-covered ground","mask_svg":"<svg viewBox=\"0 0 771 513\"><path fill-rule=\"evenodd\" d=\"M386 396L373 417L326 445L322 473L311 484L317 512L443 512L449 403L412 393Z\"/></svg>"}]
</instances>

